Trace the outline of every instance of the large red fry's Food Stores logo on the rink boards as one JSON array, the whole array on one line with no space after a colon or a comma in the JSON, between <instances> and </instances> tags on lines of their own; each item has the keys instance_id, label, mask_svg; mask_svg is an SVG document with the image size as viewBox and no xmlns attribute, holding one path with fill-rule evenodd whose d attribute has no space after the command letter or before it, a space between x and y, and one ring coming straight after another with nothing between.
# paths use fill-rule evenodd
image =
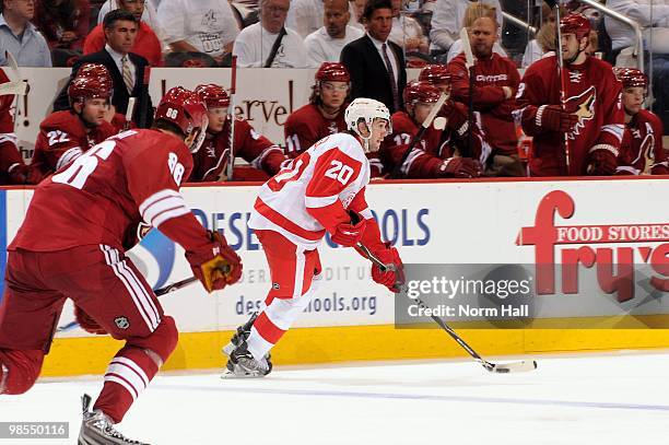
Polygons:
<instances>
[{"instance_id":1,"label":"large red fry's Food Stores logo on the rink boards","mask_svg":"<svg viewBox=\"0 0 669 445\"><path fill-rule=\"evenodd\" d=\"M535 215L535 225L523 227L516 245L535 246L536 289L538 294L555 293L555 246L586 244L559 250L562 265L562 292L578 293L578 268L596 267L597 282L606 293L617 293L619 302L634 298L634 258L649 265L661 277L650 277L650 285L669 292L669 223L619 225L555 226L555 213L563 219L574 215L574 200L561 190L543 197ZM591 247L597 244L662 243L653 246Z\"/></svg>"}]
</instances>

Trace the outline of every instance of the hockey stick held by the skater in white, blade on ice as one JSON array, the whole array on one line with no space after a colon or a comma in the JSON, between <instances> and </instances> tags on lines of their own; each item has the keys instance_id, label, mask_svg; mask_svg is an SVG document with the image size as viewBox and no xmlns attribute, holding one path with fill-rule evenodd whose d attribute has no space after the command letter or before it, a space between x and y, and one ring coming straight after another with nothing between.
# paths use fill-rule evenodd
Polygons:
<instances>
[{"instance_id":1,"label":"hockey stick held by the skater in white, blade on ice","mask_svg":"<svg viewBox=\"0 0 669 445\"><path fill-rule=\"evenodd\" d=\"M392 271L396 272L397 282L396 285L401 289L404 285L404 276L401 270L398 270L395 265L386 265L380 259L378 259L374 254L369 251L369 249L363 245L362 243L357 243L356 247L362 250L365 256L376 265L383 272ZM420 298L412 298L421 308L429 309L429 306ZM430 314L433 314L433 311L430 311ZM537 362L535 360L523 360L519 362L512 363L492 363L488 360L481 358L460 336L458 336L450 326L446 325L446 323L437 317L436 315L431 315L432 318L442 329L444 329L469 355L473 358L477 362L479 362L486 371L491 373L498 374L508 374L508 373L521 373L527 371L533 371L537 368Z\"/></svg>"}]
</instances>

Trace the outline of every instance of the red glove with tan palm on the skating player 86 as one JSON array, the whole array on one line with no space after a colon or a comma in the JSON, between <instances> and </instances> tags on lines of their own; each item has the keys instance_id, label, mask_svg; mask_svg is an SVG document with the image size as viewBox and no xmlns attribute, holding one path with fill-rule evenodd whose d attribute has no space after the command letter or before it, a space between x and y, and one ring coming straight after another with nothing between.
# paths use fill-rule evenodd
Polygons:
<instances>
[{"instance_id":1,"label":"red glove with tan palm on the skating player 86","mask_svg":"<svg viewBox=\"0 0 669 445\"><path fill-rule=\"evenodd\" d=\"M199 251L187 251L192 273L207 292L220 291L242 278L242 258L219 232L209 232L212 244Z\"/></svg>"}]
</instances>

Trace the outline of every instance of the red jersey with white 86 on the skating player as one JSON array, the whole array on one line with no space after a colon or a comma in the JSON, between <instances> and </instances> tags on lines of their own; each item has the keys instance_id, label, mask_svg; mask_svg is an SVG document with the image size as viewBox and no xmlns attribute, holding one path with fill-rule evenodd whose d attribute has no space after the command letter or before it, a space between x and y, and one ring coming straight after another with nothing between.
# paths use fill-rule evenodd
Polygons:
<instances>
[{"instance_id":1,"label":"red jersey with white 86 on the skating player","mask_svg":"<svg viewBox=\"0 0 669 445\"><path fill-rule=\"evenodd\" d=\"M93 147L37 187L8 247L33 251L104 244L128 249L140 222L186 250L211 242L179 194L192 157L159 130L130 130Z\"/></svg>"}]
</instances>

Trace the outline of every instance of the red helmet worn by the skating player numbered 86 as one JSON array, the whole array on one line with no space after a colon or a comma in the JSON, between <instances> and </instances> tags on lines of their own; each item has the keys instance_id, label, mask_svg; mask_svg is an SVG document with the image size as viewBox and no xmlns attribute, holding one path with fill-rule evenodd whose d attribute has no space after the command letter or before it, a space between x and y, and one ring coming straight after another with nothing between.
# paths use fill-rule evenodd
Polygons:
<instances>
[{"instance_id":1,"label":"red helmet worn by the skating player numbered 86","mask_svg":"<svg viewBox=\"0 0 669 445\"><path fill-rule=\"evenodd\" d=\"M200 149L209 125L204 102L198 94L183 86L175 86L165 93L155 110L154 120L176 125L186 138L197 131L198 136L189 148L191 153Z\"/></svg>"}]
</instances>

